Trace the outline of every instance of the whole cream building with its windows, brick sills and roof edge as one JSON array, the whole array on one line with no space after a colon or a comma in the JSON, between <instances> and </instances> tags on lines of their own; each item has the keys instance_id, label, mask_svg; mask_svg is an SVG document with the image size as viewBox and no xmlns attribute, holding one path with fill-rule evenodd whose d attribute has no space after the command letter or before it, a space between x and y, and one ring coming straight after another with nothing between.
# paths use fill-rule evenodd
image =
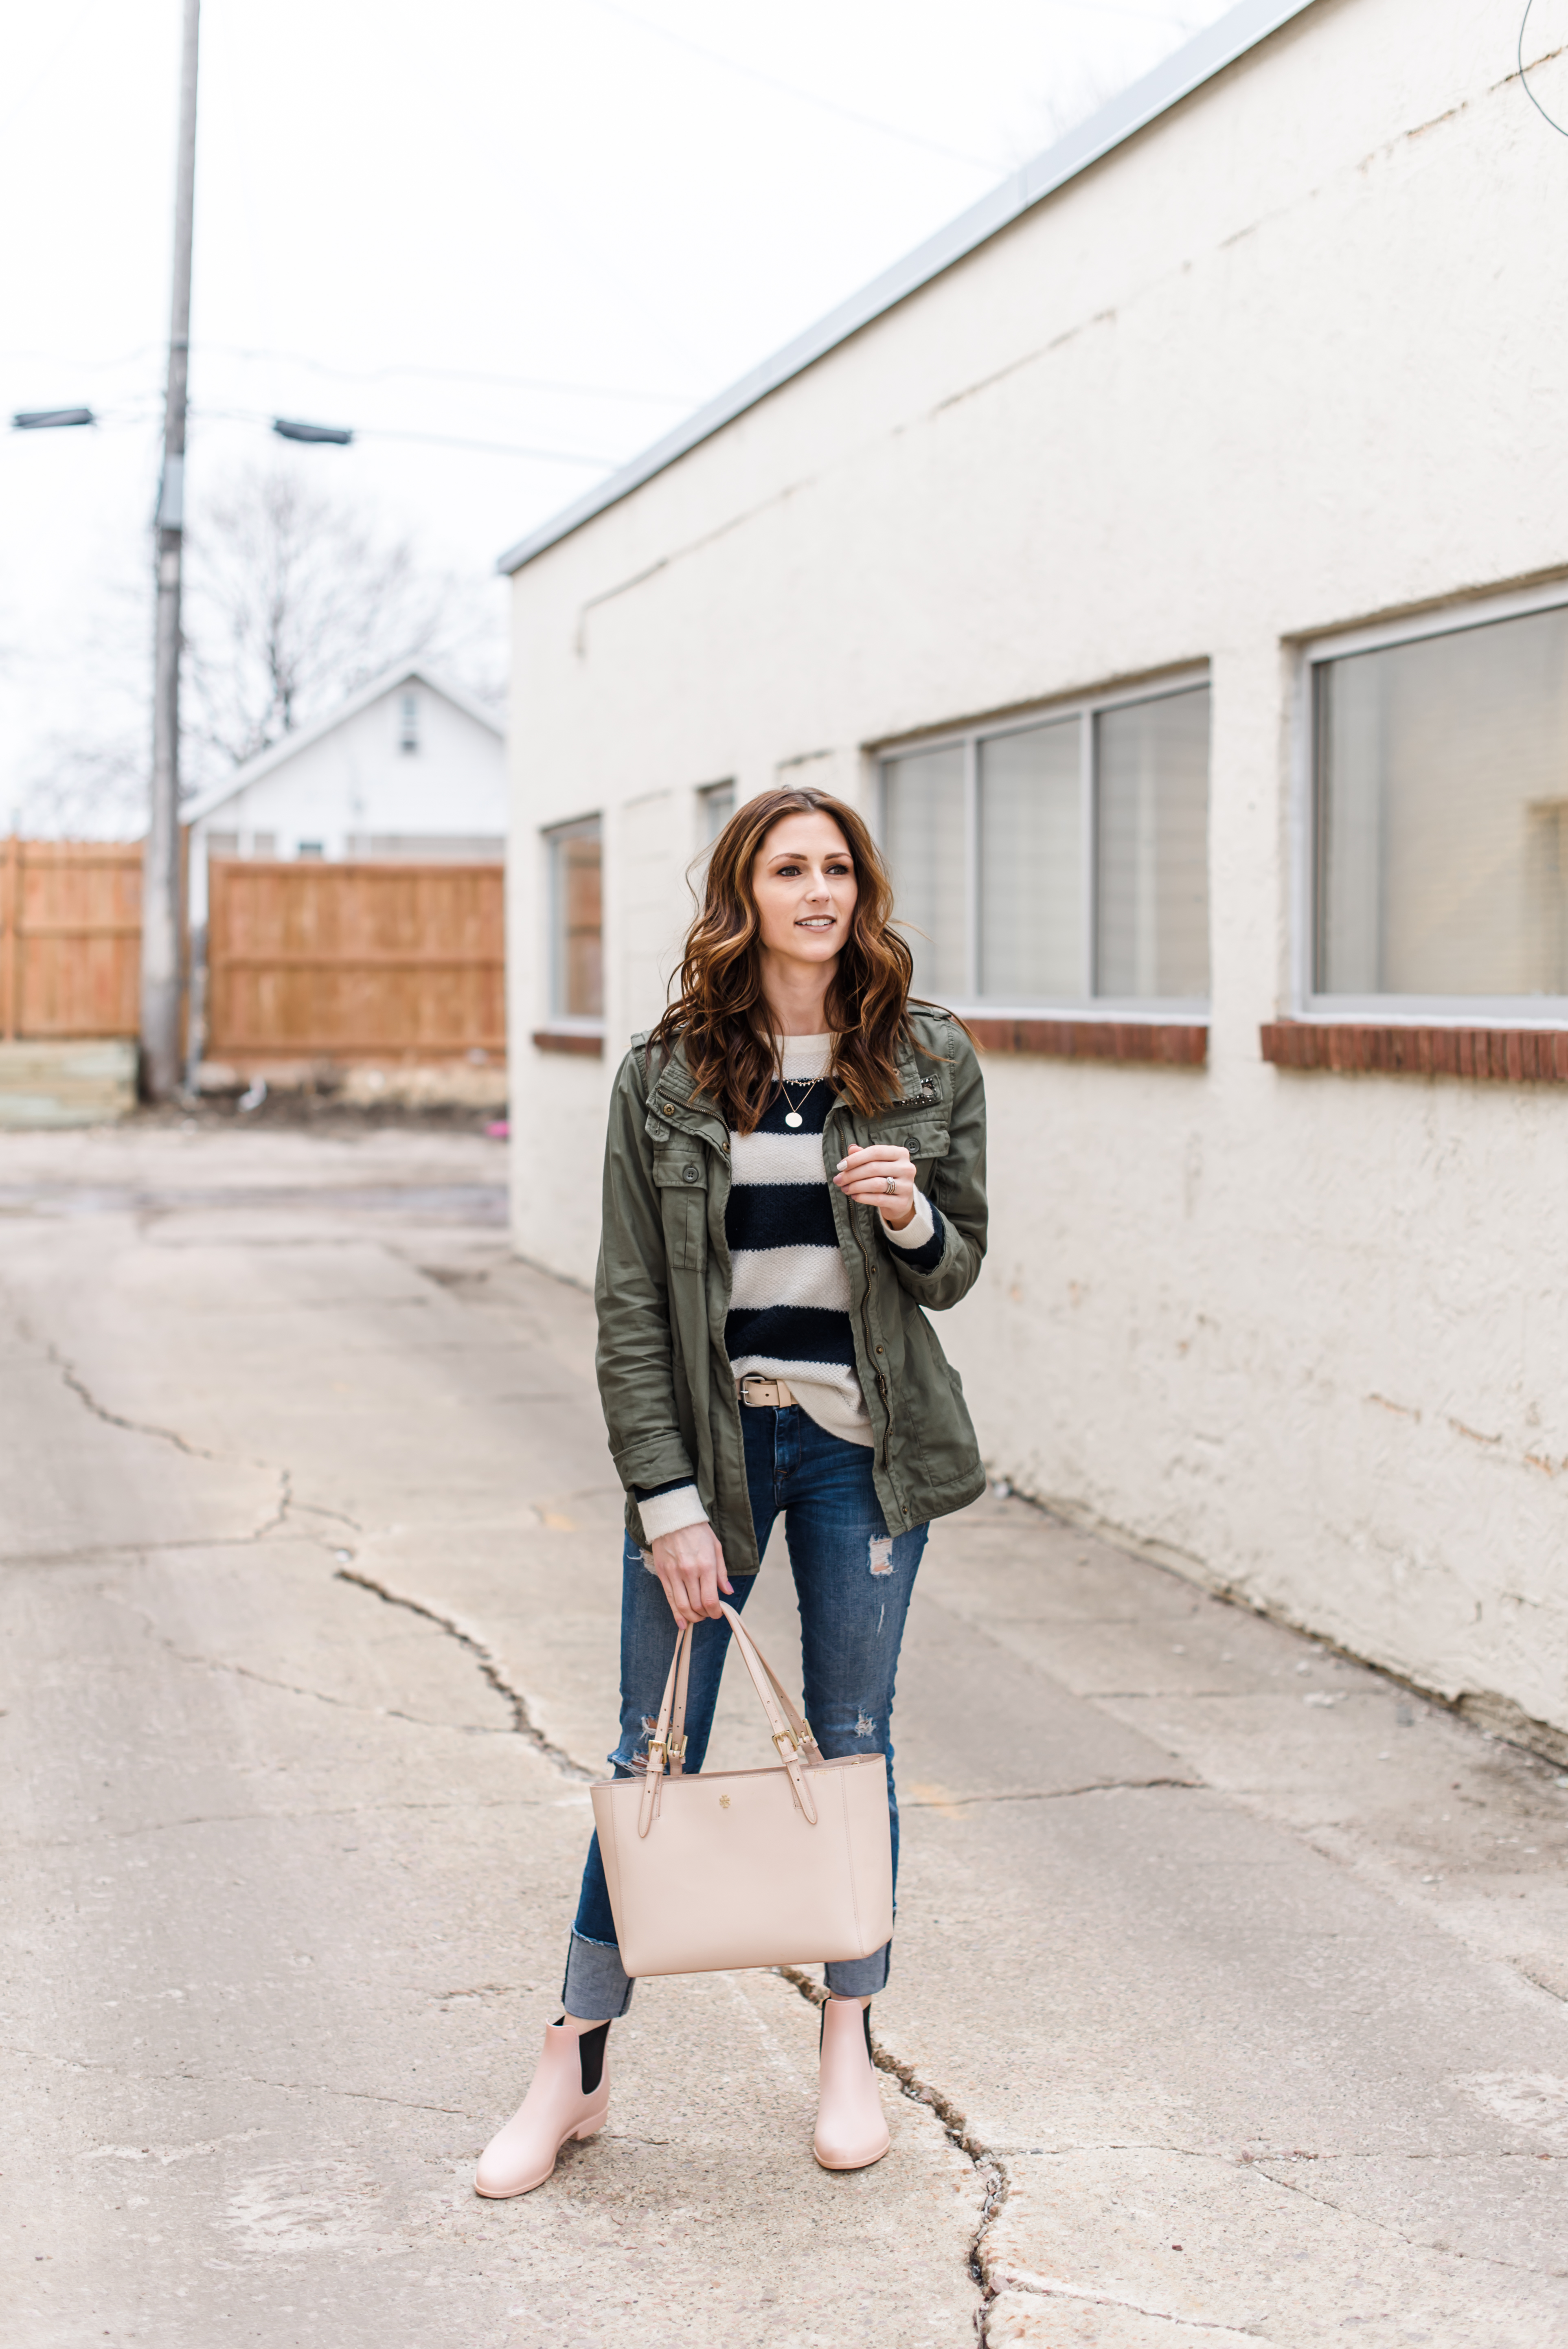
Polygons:
<instances>
[{"instance_id":1,"label":"whole cream building with its windows, brick sills and roof edge","mask_svg":"<svg viewBox=\"0 0 1568 2349\"><path fill-rule=\"evenodd\" d=\"M512 550L512 1036L582 1135L519 1247L582 1278L688 860L854 799L986 1045L993 1468L1552 1738L1568 141L1516 14L1246 0Z\"/></svg>"}]
</instances>

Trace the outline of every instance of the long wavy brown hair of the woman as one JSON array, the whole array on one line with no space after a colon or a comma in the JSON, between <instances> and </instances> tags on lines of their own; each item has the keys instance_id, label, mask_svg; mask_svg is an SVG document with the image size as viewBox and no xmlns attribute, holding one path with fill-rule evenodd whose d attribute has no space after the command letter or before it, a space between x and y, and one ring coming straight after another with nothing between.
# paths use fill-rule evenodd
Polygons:
<instances>
[{"instance_id":1,"label":"long wavy brown hair of the woman","mask_svg":"<svg viewBox=\"0 0 1568 2349\"><path fill-rule=\"evenodd\" d=\"M786 815L831 815L854 864L854 916L829 982L826 1022L833 1031L829 1073L861 1116L897 1097L899 1048L908 1038L913 958L892 928L892 883L864 822L826 792L779 789L749 799L714 841L702 907L685 933L678 994L650 1038L655 1052L685 1043L697 1088L739 1135L753 1132L779 1090L751 867Z\"/></svg>"}]
</instances>

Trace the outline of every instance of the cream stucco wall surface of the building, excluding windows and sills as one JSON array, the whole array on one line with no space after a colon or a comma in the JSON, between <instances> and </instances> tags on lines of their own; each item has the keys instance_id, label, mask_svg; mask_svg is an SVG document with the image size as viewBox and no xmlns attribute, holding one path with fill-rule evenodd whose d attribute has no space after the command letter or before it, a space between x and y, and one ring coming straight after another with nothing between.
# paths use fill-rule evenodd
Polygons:
<instances>
[{"instance_id":1,"label":"cream stucco wall surface of the building, excluding windows and sills","mask_svg":"<svg viewBox=\"0 0 1568 2349\"><path fill-rule=\"evenodd\" d=\"M1568 576L1568 146L1476 0L1319 0L514 580L514 864L603 815L606 1057L519 1088L519 1247L584 1278L697 789L1207 662L1207 1069L991 1055L986 1454L1448 1694L1568 1729L1568 1088L1268 1066L1300 646ZM1542 94L1568 106L1563 61ZM521 928L519 928L519 935ZM535 935L540 926L535 923Z\"/></svg>"}]
</instances>

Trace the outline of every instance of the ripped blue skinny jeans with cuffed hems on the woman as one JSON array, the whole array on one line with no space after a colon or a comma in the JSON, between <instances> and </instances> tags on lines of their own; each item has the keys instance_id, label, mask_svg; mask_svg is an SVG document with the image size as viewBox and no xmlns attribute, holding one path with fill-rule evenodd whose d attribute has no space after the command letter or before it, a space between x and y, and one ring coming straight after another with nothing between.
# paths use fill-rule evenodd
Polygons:
<instances>
[{"instance_id":1,"label":"ripped blue skinny jeans with cuffed hems on the woman","mask_svg":"<svg viewBox=\"0 0 1568 2349\"><path fill-rule=\"evenodd\" d=\"M772 1520L784 1513L789 1567L800 1600L800 1661L805 1717L829 1759L887 1755L887 1809L892 1813L892 1875L899 1882L899 1802L892 1785L892 1684L908 1595L925 1550L927 1527L887 1534L887 1520L871 1480L866 1445L847 1445L791 1405L789 1409L742 1405L746 1482L758 1553L768 1548ZM756 1576L735 1576L730 1607L751 1597ZM702 1769L718 1680L730 1649L730 1626L707 1616L692 1633L690 1687L685 1701L685 1766ZM627 1539L620 1607L620 1741L608 1757L617 1778L646 1762L648 1738L660 1715L664 1682L676 1654L676 1618L664 1586ZM871 1957L833 1961L826 1985L843 1999L864 1999L887 1980L885 1943ZM582 1870L582 1898L566 1957L561 2001L568 2015L606 2022L631 2004L631 1978L615 1945L615 1914L599 1858L599 1837Z\"/></svg>"}]
</instances>

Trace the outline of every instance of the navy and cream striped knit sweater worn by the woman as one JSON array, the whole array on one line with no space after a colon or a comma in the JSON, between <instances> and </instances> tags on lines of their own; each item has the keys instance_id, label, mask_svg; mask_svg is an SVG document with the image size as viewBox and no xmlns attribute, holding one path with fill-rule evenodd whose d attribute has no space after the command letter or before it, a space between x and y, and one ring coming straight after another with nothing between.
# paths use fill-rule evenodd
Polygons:
<instances>
[{"instance_id":1,"label":"navy and cream striped knit sweater worn by the woman","mask_svg":"<svg viewBox=\"0 0 1568 2349\"><path fill-rule=\"evenodd\" d=\"M784 1379L803 1412L852 1445L869 1445L871 1414L854 1367L850 1278L838 1252L822 1135L833 1088L826 1081L829 1036L779 1041L779 1073L789 1090L749 1135L730 1132L730 1315L725 1351L739 1384L749 1374ZM817 1085L810 1081L819 1078ZM810 1090L807 1090L810 1085ZM800 1125L784 1123L791 1109ZM883 1226L887 1231L887 1226ZM887 1231L920 1271L941 1257L941 1217L915 1191L915 1217ZM704 1520L695 1485L638 1492L648 1541Z\"/></svg>"}]
</instances>

